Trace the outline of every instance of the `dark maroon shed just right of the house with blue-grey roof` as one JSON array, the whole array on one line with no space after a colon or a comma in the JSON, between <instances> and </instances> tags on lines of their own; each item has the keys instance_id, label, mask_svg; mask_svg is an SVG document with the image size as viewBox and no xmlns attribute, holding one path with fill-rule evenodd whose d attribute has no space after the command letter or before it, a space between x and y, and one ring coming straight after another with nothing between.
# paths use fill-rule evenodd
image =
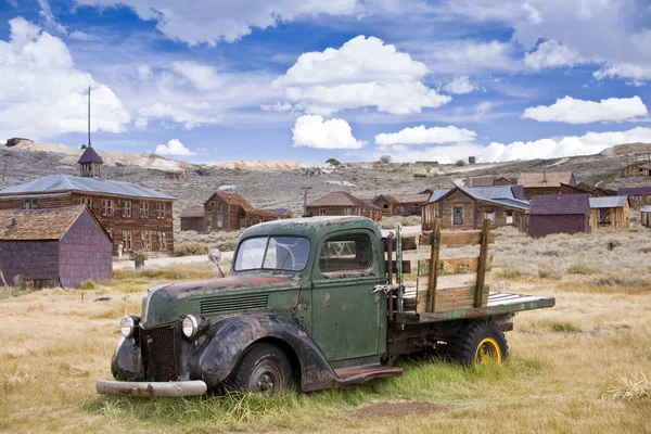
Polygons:
<instances>
[{"instance_id":1,"label":"dark maroon shed just right of the house with blue-grey roof","mask_svg":"<svg viewBox=\"0 0 651 434\"><path fill-rule=\"evenodd\" d=\"M525 225L529 237L552 233L590 232L590 202L587 194L535 195Z\"/></svg>"}]
</instances>

